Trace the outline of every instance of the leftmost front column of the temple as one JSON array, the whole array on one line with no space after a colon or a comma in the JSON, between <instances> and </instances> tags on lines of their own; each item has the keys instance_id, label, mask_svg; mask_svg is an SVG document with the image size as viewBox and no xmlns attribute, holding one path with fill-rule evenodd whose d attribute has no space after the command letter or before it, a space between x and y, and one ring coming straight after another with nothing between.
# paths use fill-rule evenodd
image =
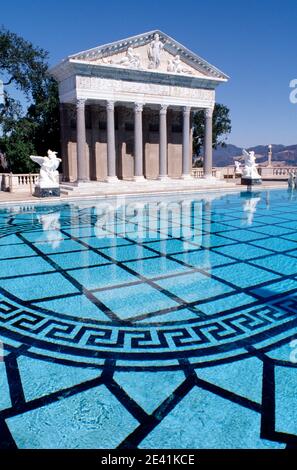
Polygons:
<instances>
[{"instance_id":1,"label":"leftmost front column of the temple","mask_svg":"<svg viewBox=\"0 0 297 470\"><path fill-rule=\"evenodd\" d=\"M77 182L89 181L88 167L86 162L86 122L85 122L85 100L78 99L76 102L76 142L77 142Z\"/></svg>"}]
</instances>

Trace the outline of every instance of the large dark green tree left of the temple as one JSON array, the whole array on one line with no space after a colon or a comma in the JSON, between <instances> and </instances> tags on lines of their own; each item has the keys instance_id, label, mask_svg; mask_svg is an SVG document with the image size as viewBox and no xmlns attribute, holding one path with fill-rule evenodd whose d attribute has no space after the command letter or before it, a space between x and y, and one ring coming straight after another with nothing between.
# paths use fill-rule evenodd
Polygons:
<instances>
[{"instance_id":1,"label":"large dark green tree left of the temple","mask_svg":"<svg viewBox=\"0 0 297 470\"><path fill-rule=\"evenodd\" d=\"M37 169L29 155L44 155L48 148L60 150L58 87L48 76L47 58L45 50L0 29L0 79L4 82L0 150L14 173ZM24 94L25 112L12 97L11 87Z\"/></svg>"}]
</instances>

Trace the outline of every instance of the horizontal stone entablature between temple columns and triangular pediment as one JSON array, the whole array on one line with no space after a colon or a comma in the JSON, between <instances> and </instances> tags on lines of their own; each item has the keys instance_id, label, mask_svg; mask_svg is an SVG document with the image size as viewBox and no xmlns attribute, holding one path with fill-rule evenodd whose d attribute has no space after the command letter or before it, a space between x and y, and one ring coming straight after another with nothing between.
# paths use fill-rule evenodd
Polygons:
<instances>
[{"instance_id":1,"label":"horizontal stone entablature between temple columns and triangular pediment","mask_svg":"<svg viewBox=\"0 0 297 470\"><path fill-rule=\"evenodd\" d=\"M77 65L77 64L75 64ZM72 67L71 67L72 66ZM184 77L159 77L149 72L112 70L112 78L106 77L106 71L97 69L94 76L88 76L90 70L70 64L67 78L59 82L60 101L63 103L75 102L77 98L107 99L112 93L115 100L134 101L135 96L143 96L143 101L152 104L166 99L169 104L177 106L192 106L206 108L214 106L215 89L213 81L208 79L194 79L189 81ZM109 71L110 72L110 71ZM101 75L101 76L100 76ZM103 75L103 76L102 76ZM159 75L159 74L158 74Z\"/></svg>"}]
</instances>

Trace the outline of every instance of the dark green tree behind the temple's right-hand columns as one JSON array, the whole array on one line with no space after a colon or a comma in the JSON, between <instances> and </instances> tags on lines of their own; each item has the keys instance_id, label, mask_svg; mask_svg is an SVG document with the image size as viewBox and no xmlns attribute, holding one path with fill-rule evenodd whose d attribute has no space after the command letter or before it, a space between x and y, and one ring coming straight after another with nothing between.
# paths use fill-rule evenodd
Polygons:
<instances>
[{"instance_id":1,"label":"dark green tree behind the temple's right-hand columns","mask_svg":"<svg viewBox=\"0 0 297 470\"><path fill-rule=\"evenodd\" d=\"M204 144L204 112L198 111L193 120L193 153L199 156ZM212 145L225 146L227 135L231 132L230 111L223 104L215 104L212 119Z\"/></svg>"}]
</instances>

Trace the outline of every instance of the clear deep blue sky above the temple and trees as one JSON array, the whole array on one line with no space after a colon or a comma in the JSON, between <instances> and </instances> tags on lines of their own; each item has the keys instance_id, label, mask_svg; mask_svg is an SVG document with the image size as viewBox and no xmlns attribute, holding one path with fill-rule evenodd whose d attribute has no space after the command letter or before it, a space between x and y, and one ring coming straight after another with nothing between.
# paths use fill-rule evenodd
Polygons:
<instances>
[{"instance_id":1,"label":"clear deep blue sky above the temple and trees","mask_svg":"<svg viewBox=\"0 0 297 470\"><path fill-rule=\"evenodd\" d=\"M231 77L217 101L231 110L230 143L297 143L296 0L12 0L0 24L49 51L71 53L161 29Z\"/></svg>"}]
</instances>

